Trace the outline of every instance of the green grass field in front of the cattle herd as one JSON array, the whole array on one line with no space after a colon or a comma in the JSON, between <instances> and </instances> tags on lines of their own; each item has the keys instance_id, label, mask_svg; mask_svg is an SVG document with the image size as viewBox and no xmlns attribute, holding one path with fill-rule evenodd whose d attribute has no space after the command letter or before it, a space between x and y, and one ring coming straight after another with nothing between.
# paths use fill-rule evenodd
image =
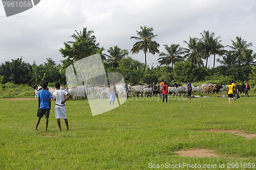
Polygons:
<instances>
[{"instance_id":1,"label":"green grass field in front of the cattle herd","mask_svg":"<svg viewBox=\"0 0 256 170\"><path fill-rule=\"evenodd\" d=\"M165 163L216 164L216 169L237 163L237 169L253 169L244 165L256 163L256 138L207 131L255 134L256 95L250 94L233 104L217 95L191 101L169 98L168 103L133 98L96 116L87 100L68 101L71 131L65 130L63 119L63 131L58 130L53 108L48 132L44 118L34 130L37 102L0 100L0 169L148 169ZM190 149L214 150L220 156L190 158L174 153Z\"/></svg>"}]
</instances>

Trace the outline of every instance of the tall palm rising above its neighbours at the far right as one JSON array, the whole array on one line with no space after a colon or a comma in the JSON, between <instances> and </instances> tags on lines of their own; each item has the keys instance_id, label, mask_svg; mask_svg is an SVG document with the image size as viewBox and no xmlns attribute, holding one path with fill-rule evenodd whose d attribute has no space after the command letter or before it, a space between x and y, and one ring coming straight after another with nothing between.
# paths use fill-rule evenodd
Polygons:
<instances>
[{"instance_id":1,"label":"tall palm rising above its neighbours at the far right","mask_svg":"<svg viewBox=\"0 0 256 170\"><path fill-rule=\"evenodd\" d=\"M242 53L244 53L248 47L252 46L252 43L250 42L247 44L247 41L243 40L241 37L236 37L236 40L237 40L236 42L231 40L232 45L231 46L227 45L227 46L236 52L236 54L238 55L239 63L241 64L240 57Z\"/></svg>"}]
</instances>

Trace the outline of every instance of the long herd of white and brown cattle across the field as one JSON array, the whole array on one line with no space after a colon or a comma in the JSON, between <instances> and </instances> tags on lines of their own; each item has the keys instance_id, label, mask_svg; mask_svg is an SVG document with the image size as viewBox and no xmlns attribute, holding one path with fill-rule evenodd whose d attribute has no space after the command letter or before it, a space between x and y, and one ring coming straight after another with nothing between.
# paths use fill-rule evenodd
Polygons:
<instances>
[{"instance_id":1,"label":"long herd of white and brown cattle across the field","mask_svg":"<svg viewBox=\"0 0 256 170\"><path fill-rule=\"evenodd\" d=\"M40 87L38 87L39 89ZM237 89L240 93L244 92L245 85L237 85ZM66 90L70 95L71 99L82 99L82 98L91 98L91 99L100 99L100 98L109 98L109 87L108 86L96 86L90 87L88 85L61 88ZM254 86L254 92L256 91L256 85ZM49 87L51 94L56 90L56 88ZM187 91L187 86L182 86L182 84L169 84L168 93L171 95L182 95ZM227 91L227 86L224 85L213 85L213 84L202 84L201 86L192 86L192 92L197 92L197 95L209 93L222 93ZM37 95L37 90L35 92L35 100ZM160 94L160 86L158 85L127 85L127 91L125 85L116 85L116 92L119 98L126 98L126 96L157 96Z\"/></svg>"}]
</instances>

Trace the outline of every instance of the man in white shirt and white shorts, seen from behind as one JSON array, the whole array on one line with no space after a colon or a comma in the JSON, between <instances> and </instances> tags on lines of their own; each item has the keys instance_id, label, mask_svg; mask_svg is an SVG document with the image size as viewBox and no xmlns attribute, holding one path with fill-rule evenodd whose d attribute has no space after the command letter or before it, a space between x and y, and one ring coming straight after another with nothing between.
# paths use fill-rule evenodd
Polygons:
<instances>
[{"instance_id":1,"label":"man in white shirt and white shorts, seen from behind","mask_svg":"<svg viewBox=\"0 0 256 170\"><path fill-rule=\"evenodd\" d=\"M55 104L55 118L57 119L57 124L59 126L59 130L61 131L61 126L60 126L60 118L65 119L65 124L67 126L67 130L69 130L69 122L66 116L66 108L65 108L65 103L67 100L70 98L70 94L65 91L65 90L60 90L60 84L55 83L55 88L56 91L52 93L52 98L56 99L56 104ZM65 95L67 95L67 99L65 99Z\"/></svg>"}]
</instances>

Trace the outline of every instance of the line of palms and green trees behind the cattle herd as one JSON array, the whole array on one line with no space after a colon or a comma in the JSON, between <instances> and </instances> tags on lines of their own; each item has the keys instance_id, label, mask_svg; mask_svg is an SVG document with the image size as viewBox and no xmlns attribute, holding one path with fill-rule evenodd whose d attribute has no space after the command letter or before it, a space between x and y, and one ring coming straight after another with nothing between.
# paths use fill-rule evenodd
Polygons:
<instances>
[{"instance_id":1,"label":"line of palms and green trees behind the cattle herd","mask_svg":"<svg viewBox=\"0 0 256 170\"><path fill-rule=\"evenodd\" d=\"M36 65L25 63L22 57L6 61L0 65L0 83L12 82L14 84L40 84L42 82L59 82L66 84L66 68L75 61L82 58L100 54L106 72L119 72L124 76L127 83L158 83L162 79L168 83L185 83L199 81L216 81L218 84L227 84L228 81L237 80L244 82L251 80L255 84L255 61L256 54L241 37L231 40L231 45L221 44L220 36L209 31L200 33L201 38L191 38L184 41L187 47L179 44L164 44L165 52L160 52L160 44L153 41L157 35L153 33L153 28L140 27L136 39L137 42L131 49L131 54L144 53L145 63L133 59L128 50L122 50L117 45L107 50L100 47L93 35L93 31L83 28L76 31L71 37L74 41L64 42L64 48L60 48L63 60L61 64L56 64L52 58L47 58L44 64ZM224 48L230 48L229 51ZM146 64L146 54L158 54L158 65L156 67ZM221 58L216 60L216 55ZM207 68L208 58L214 56L214 67ZM203 60L206 61L204 65ZM215 67L215 61L222 64Z\"/></svg>"}]
</instances>

